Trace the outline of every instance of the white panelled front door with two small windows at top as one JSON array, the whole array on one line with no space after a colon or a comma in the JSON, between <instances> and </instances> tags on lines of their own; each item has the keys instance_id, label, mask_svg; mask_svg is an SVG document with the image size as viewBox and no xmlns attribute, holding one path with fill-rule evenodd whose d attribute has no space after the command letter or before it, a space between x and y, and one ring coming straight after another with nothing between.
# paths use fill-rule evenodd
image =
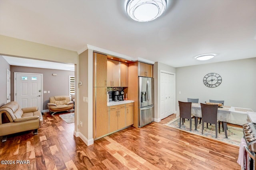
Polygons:
<instances>
[{"instance_id":1,"label":"white panelled front door with two small windows at top","mask_svg":"<svg viewBox=\"0 0 256 170\"><path fill-rule=\"evenodd\" d=\"M14 101L21 108L38 106L42 111L42 74L14 72Z\"/></svg>"}]
</instances>

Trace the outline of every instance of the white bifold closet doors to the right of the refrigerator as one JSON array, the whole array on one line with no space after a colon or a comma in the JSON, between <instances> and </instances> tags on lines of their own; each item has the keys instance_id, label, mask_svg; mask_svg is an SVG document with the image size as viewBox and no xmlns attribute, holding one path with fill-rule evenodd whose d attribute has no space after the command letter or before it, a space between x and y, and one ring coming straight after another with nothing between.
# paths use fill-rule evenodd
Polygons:
<instances>
[{"instance_id":1,"label":"white bifold closet doors to the right of the refrigerator","mask_svg":"<svg viewBox=\"0 0 256 170\"><path fill-rule=\"evenodd\" d=\"M160 119L174 114L174 75L160 72Z\"/></svg>"}]
</instances>

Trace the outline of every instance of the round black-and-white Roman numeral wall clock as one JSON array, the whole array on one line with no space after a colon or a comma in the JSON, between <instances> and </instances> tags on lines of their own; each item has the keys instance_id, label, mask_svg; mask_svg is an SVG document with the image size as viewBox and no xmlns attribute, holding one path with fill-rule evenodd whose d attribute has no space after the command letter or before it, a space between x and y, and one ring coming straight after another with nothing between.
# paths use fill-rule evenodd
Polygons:
<instances>
[{"instance_id":1,"label":"round black-and-white Roman numeral wall clock","mask_svg":"<svg viewBox=\"0 0 256 170\"><path fill-rule=\"evenodd\" d=\"M204 85L210 88L219 86L221 81L222 78L217 73L208 73L203 78Z\"/></svg>"}]
</instances>

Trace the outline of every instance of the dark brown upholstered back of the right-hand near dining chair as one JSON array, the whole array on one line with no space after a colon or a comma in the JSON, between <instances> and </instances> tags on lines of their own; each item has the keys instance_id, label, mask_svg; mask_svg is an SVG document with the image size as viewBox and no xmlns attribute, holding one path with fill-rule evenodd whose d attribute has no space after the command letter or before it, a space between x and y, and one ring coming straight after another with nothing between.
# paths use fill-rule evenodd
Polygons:
<instances>
[{"instance_id":1,"label":"dark brown upholstered back of the right-hand near dining chair","mask_svg":"<svg viewBox=\"0 0 256 170\"><path fill-rule=\"evenodd\" d=\"M207 123L216 124L218 114L218 104L201 103L202 120Z\"/></svg>"}]
</instances>

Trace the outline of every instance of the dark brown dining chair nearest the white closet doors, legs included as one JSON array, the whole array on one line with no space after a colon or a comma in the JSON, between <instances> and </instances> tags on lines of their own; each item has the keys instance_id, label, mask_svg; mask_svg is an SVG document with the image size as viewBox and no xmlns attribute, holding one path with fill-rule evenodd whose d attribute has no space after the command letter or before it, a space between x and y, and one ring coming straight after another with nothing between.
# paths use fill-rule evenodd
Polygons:
<instances>
[{"instance_id":1,"label":"dark brown dining chair nearest the white closet doors, legs included","mask_svg":"<svg viewBox=\"0 0 256 170\"><path fill-rule=\"evenodd\" d=\"M197 117L191 115L191 104L192 104L192 102L181 102L181 101L179 101L180 126L181 126L181 122L183 124L183 118L190 120L190 131L192 129L192 118L195 118L195 129L197 128L197 122L198 122L198 121L196 121Z\"/></svg>"}]
</instances>

